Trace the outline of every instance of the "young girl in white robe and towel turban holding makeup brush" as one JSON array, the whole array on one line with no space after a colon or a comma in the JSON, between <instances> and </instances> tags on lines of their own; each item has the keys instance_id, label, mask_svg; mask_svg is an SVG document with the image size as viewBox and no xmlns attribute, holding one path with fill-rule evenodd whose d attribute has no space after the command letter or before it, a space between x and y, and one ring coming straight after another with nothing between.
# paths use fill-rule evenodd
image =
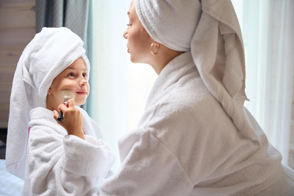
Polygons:
<instances>
[{"instance_id":1,"label":"young girl in white robe and towel turban holding makeup brush","mask_svg":"<svg viewBox=\"0 0 294 196\"><path fill-rule=\"evenodd\" d=\"M110 175L114 155L103 133L75 106L89 95L89 71L83 41L67 28L43 28L25 47L13 78L6 149L7 171L25 180L23 195L90 195ZM63 105L63 89L75 100Z\"/></svg>"}]
</instances>

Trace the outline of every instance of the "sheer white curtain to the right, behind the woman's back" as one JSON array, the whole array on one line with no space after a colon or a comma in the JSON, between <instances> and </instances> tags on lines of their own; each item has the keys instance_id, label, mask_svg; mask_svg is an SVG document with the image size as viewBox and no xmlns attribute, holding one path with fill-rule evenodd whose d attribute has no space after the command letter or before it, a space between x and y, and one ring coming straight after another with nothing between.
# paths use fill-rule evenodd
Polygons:
<instances>
[{"instance_id":1,"label":"sheer white curtain to the right, behind the woman's back","mask_svg":"<svg viewBox=\"0 0 294 196\"><path fill-rule=\"evenodd\" d=\"M294 68L294 1L232 0L246 55L245 106L288 164ZM241 6L240 6L241 5ZM240 9L241 7L241 9Z\"/></svg>"}]
</instances>

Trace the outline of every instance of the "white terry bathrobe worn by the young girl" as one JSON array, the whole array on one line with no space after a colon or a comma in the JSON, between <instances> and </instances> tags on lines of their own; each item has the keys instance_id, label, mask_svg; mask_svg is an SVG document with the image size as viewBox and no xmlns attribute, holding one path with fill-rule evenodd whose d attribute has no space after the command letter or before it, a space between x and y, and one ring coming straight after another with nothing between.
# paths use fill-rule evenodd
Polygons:
<instances>
[{"instance_id":1,"label":"white terry bathrobe worn by the young girl","mask_svg":"<svg viewBox=\"0 0 294 196\"><path fill-rule=\"evenodd\" d=\"M68 135L53 111L44 107L30 111L23 195L97 194L102 179L111 175L115 157L97 123L80 111L85 140Z\"/></svg>"}]
</instances>

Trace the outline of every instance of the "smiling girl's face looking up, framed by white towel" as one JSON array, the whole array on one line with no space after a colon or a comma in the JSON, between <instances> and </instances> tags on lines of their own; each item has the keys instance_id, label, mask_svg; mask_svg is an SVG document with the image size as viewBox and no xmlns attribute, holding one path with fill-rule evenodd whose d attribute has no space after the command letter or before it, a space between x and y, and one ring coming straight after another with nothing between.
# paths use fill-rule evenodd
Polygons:
<instances>
[{"instance_id":1,"label":"smiling girl's face looking up, framed by white towel","mask_svg":"<svg viewBox=\"0 0 294 196\"><path fill-rule=\"evenodd\" d=\"M84 104L90 92L90 85L86 76L85 62L80 57L55 77L49 89L51 95L47 95L47 105L50 104L55 107L62 104L64 99L59 96L59 92L63 89L70 89L76 93L74 99L76 105ZM51 103L48 103L48 101Z\"/></svg>"}]
</instances>

